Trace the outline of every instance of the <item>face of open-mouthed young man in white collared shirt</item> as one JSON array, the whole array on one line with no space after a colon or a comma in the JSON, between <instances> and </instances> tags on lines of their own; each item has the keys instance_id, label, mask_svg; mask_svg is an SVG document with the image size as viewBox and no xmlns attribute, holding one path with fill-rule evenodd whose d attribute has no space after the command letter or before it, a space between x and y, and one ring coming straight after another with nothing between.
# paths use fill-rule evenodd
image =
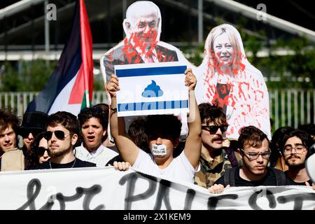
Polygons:
<instances>
[{"instance_id":1,"label":"face of open-mouthed young man in white collared shirt","mask_svg":"<svg viewBox=\"0 0 315 224\"><path fill-rule=\"evenodd\" d=\"M90 118L81 127L84 146L88 151L92 152L97 150L102 144L102 138L106 134L103 126L99 123L98 118Z\"/></svg>"}]
</instances>

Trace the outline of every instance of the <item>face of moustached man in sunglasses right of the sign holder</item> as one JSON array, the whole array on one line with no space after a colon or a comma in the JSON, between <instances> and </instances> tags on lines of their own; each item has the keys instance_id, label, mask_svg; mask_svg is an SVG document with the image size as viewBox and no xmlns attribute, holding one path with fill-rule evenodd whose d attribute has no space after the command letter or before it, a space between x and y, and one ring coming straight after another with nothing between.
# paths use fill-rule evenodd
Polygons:
<instances>
[{"instance_id":1,"label":"face of moustached man in sunglasses right of the sign holder","mask_svg":"<svg viewBox=\"0 0 315 224\"><path fill-rule=\"evenodd\" d=\"M216 125L214 122L210 122L207 125L207 121L204 120L204 122L202 123L202 126L214 126ZM219 124L218 126L221 126L223 124ZM202 144L205 147L209 147L212 148L214 150L216 149L220 149L223 147L223 133L221 128L218 128L218 130L216 130L216 132L212 132L209 129L202 129Z\"/></svg>"}]
</instances>

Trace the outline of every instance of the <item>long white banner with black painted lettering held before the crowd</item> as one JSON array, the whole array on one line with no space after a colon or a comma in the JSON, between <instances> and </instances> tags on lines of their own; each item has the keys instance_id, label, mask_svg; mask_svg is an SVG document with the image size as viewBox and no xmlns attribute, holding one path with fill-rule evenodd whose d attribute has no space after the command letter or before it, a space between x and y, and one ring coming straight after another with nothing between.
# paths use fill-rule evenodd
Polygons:
<instances>
[{"instance_id":1,"label":"long white banner with black painted lettering held before the crowd","mask_svg":"<svg viewBox=\"0 0 315 224\"><path fill-rule=\"evenodd\" d=\"M113 167L0 172L0 209L315 209L306 186L207 189Z\"/></svg>"}]
</instances>

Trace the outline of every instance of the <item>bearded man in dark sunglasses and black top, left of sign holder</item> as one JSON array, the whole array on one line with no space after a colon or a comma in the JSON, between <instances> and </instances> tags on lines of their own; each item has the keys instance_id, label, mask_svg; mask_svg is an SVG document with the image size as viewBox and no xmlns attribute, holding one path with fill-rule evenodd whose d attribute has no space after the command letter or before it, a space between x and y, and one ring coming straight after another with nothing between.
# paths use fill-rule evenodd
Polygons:
<instances>
[{"instance_id":1,"label":"bearded man in dark sunglasses and black top, left of sign holder","mask_svg":"<svg viewBox=\"0 0 315 224\"><path fill-rule=\"evenodd\" d=\"M95 167L73 155L73 146L78 141L80 127L76 116L59 111L48 116L44 138L48 142L50 160L39 165L38 169L59 169L77 167Z\"/></svg>"}]
</instances>

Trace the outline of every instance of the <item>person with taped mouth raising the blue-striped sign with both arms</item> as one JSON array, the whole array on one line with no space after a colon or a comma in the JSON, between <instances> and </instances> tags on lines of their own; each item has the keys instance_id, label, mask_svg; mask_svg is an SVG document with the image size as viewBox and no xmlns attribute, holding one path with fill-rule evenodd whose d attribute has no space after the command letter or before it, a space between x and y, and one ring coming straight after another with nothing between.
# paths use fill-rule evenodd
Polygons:
<instances>
[{"instance_id":1,"label":"person with taped mouth raising the blue-striped sign with both arms","mask_svg":"<svg viewBox=\"0 0 315 224\"><path fill-rule=\"evenodd\" d=\"M173 115L148 116L146 134L151 153L141 151L125 133L125 122L120 117L118 122L116 92L120 89L118 77L111 76L106 90L111 94L110 124L111 132L118 151L125 162L141 172L161 176L164 179L186 181L193 183L195 172L199 165L201 151L201 120L195 100L196 78L191 69L185 71L185 85L188 86L190 113L188 116L189 134L185 149L178 157L173 157L173 151L179 144L181 122Z\"/></svg>"}]
</instances>

